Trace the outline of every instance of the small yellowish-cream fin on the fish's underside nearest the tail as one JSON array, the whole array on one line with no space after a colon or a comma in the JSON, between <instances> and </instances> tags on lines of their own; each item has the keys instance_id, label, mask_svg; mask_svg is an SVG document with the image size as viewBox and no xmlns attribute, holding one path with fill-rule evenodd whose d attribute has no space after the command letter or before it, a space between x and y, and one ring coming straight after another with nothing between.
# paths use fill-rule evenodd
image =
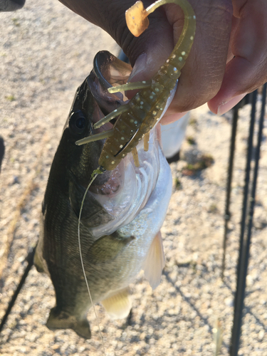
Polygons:
<instances>
[{"instance_id":1,"label":"small yellowish-cream fin on the fish's underside nearest the tail","mask_svg":"<svg viewBox=\"0 0 267 356\"><path fill-rule=\"evenodd\" d=\"M132 308L132 300L130 298L129 288L119 290L112 296L101 300L101 304L105 308L111 319L127 318Z\"/></svg>"}]
</instances>

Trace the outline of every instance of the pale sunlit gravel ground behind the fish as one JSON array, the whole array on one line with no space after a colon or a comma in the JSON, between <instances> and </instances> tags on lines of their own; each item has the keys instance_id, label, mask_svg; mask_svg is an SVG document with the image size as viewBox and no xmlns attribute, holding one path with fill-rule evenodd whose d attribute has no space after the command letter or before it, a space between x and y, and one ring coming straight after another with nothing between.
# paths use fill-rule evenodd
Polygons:
<instances>
[{"instance_id":1,"label":"pale sunlit gravel ground behind the fish","mask_svg":"<svg viewBox=\"0 0 267 356\"><path fill-rule=\"evenodd\" d=\"M38 239L38 216L49 168L76 88L90 73L95 53L118 53L110 37L59 2L27 0L0 14L0 127L6 153L0 175L0 319L16 288L22 263ZM162 228L166 266L152 291L140 276L131 286L130 320L111 321L96 306L107 355L214 355L214 328L231 335L236 258L248 132L240 110L225 280L221 281L230 115L206 106L191 114L182 159L172 163L174 189ZM255 224L248 268L246 316L239 355L267 356L267 129L263 132ZM189 141L195 142L189 145ZM201 155L214 164L192 176L184 170ZM6 246L11 246L5 259ZM4 263L4 265L3 265ZM92 340L45 326L55 303L46 275L32 268L0 336L1 355L103 355L93 310Z\"/></svg>"}]
</instances>

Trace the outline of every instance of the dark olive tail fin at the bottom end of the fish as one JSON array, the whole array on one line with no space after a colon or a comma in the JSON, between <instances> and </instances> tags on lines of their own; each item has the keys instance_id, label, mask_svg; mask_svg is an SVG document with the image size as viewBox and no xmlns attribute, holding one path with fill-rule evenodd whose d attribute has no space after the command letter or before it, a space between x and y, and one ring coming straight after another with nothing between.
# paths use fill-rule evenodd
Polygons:
<instances>
[{"instance_id":1,"label":"dark olive tail fin at the bottom end of the fish","mask_svg":"<svg viewBox=\"0 0 267 356\"><path fill-rule=\"evenodd\" d=\"M50 330L56 329L73 329L80 337L90 339L90 325L86 317L77 319L74 315L70 315L64 311L57 311L57 308L52 308L46 326Z\"/></svg>"}]
</instances>

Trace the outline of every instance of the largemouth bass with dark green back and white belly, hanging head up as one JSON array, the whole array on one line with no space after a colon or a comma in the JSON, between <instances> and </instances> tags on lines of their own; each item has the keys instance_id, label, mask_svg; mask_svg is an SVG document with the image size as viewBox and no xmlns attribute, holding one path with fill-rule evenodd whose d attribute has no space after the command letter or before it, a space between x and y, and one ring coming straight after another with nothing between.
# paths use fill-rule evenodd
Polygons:
<instances>
[{"instance_id":1,"label":"largemouth bass with dark green back and white belly, hanging head up","mask_svg":"<svg viewBox=\"0 0 267 356\"><path fill-rule=\"evenodd\" d=\"M127 82L131 67L101 51L94 68L75 93L61 142L53 159L41 211L41 234L34 263L48 273L56 292L48 328L71 328L90 337L91 306L78 247L78 216L91 174L105 140L77 140L110 130L112 122L93 124L125 103L108 88ZM155 288L164 267L160 228L172 192L172 177L160 147L159 125L150 132L149 150L137 146L140 167L127 155L113 171L99 174L86 194L80 220L80 244L93 303L111 318L131 309L129 284L141 270Z\"/></svg>"}]
</instances>

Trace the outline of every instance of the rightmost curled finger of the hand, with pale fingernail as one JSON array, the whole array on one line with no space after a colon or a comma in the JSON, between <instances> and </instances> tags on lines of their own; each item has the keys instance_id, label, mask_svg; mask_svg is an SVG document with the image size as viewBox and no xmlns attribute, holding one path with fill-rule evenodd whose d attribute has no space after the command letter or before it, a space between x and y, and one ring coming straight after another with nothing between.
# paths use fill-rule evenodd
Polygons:
<instances>
[{"instance_id":1,"label":"rightmost curled finger of the hand, with pale fingernail","mask_svg":"<svg viewBox=\"0 0 267 356\"><path fill-rule=\"evenodd\" d=\"M219 92L209 100L219 115L267 81L267 2L232 0L233 16L226 70Z\"/></svg>"}]
</instances>

